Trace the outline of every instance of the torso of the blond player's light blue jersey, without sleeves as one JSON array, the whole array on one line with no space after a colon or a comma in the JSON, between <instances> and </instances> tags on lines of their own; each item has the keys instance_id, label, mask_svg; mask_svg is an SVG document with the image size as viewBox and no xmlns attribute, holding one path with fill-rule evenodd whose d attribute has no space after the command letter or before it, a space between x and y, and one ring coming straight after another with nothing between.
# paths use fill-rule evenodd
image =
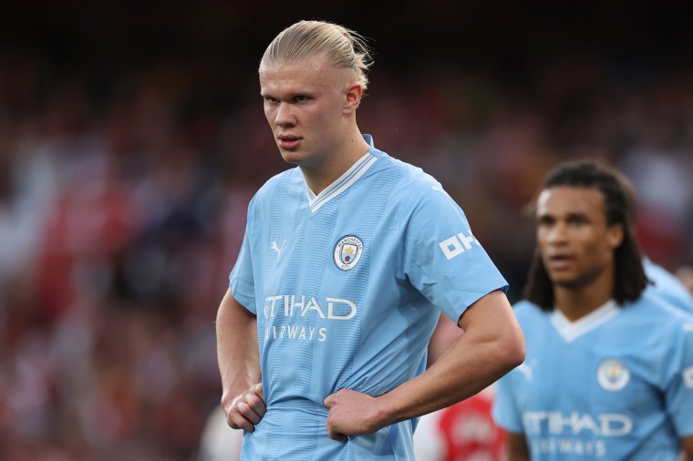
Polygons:
<instances>
[{"instance_id":1,"label":"torso of the blond player's light blue jersey, without sleeves","mask_svg":"<svg viewBox=\"0 0 693 461\"><path fill-rule=\"evenodd\" d=\"M421 361L423 351L419 359L406 353L407 334L399 334L412 327L398 312L403 300L420 296L396 263L403 228L388 197L401 174L379 170L319 207L303 187L280 185L265 207L252 248L268 411L248 450L262 446L270 458L407 459L395 451L410 449L409 422L339 444L326 437L322 405L340 388L387 392ZM437 315L426 313L431 330Z\"/></svg>"}]
</instances>

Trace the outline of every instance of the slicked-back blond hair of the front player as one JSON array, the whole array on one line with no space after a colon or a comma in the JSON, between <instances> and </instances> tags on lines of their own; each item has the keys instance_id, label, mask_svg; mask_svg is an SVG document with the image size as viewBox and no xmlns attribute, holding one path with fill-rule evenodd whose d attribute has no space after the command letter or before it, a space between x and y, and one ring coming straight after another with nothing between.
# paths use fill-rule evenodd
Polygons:
<instances>
[{"instance_id":1,"label":"slicked-back blond hair of the front player","mask_svg":"<svg viewBox=\"0 0 693 461\"><path fill-rule=\"evenodd\" d=\"M260 66L295 62L326 53L330 64L354 71L364 91L373 63L366 40L353 30L325 21L299 21L286 27L264 51Z\"/></svg>"}]
</instances>

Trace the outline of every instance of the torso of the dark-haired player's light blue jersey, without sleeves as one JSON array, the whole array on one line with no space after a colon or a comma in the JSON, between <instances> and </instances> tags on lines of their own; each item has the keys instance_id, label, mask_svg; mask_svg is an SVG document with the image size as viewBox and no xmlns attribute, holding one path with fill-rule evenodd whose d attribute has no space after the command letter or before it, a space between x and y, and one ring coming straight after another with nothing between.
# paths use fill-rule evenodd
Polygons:
<instances>
[{"instance_id":1,"label":"torso of the dark-haired player's light blue jersey, without sleeves","mask_svg":"<svg viewBox=\"0 0 693 461\"><path fill-rule=\"evenodd\" d=\"M533 459L676 458L657 384L663 342L624 313L564 330L546 314L522 322L527 353L512 379Z\"/></svg>"}]
</instances>

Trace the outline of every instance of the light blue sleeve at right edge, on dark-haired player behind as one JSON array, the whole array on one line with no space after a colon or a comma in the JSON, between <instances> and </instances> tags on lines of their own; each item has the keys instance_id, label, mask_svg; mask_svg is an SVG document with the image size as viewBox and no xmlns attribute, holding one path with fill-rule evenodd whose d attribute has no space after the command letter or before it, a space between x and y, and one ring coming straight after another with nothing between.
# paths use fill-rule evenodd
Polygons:
<instances>
[{"instance_id":1,"label":"light blue sleeve at right edge, on dark-haired player behind","mask_svg":"<svg viewBox=\"0 0 693 461\"><path fill-rule=\"evenodd\" d=\"M682 316L686 320L678 323L680 338L677 350L672 353L665 389L668 414L674 422L679 436L693 435L693 316Z\"/></svg>"}]
</instances>

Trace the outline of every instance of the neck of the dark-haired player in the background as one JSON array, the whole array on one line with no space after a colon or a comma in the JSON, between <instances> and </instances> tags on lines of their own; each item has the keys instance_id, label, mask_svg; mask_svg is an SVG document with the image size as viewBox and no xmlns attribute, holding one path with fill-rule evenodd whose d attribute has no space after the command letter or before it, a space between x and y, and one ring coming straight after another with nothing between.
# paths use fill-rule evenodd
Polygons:
<instances>
[{"instance_id":1,"label":"neck of the dark-haired player in the background","mask_svg":"<svg viewBox=\"0 0 693 461\"><path fill-rule=\"evenodd\" d=\"M614 297L614 277L608 271L594 282L581 287L553 286L555 306L574 322L599 309Z\"/></svg>"}]
</instances>

